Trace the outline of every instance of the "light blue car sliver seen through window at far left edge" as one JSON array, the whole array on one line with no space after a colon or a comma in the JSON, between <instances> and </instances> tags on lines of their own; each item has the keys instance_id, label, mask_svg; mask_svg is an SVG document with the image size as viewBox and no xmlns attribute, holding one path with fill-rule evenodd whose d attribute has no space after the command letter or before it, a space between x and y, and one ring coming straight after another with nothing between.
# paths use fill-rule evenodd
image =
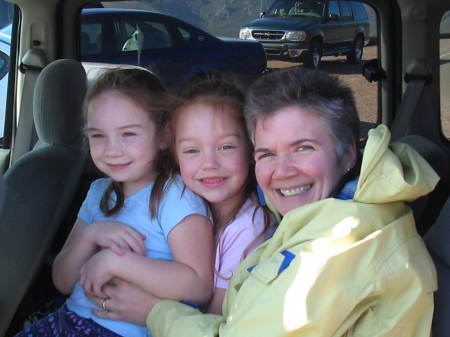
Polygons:
<instances>
[{"instance_id":1,"label":"light blue car sliver seen through window at far left edge","mask_svg":"<svg viewBox=\"0 0 450 337\"><path fill-rule=\"evenodd\" d=\"M0 30L0 138L5 127L6 93L8 89L9 51L11 49L11 27Z\"/></svg>"}]
</instances>

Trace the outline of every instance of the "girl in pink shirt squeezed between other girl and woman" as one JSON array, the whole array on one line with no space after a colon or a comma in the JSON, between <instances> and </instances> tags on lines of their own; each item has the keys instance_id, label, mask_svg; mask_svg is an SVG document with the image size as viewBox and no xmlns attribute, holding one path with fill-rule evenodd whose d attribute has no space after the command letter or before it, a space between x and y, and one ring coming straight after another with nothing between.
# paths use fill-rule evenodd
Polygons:
<instances>
[{"instance_id":1,"label":"girl in pink shirt squeezed between other girl and woman","mask_svg":"<svg viewBox=\"0 0 450 337\"><path fill-rule=\"evenodd\" d=\"M258 203L244 94L220 78L191 84L171 117L172 149L183 181L210 205L216 242L214 295L220 314L228 281L242 259L273 230Z\"/></svg>"}]
</instances>

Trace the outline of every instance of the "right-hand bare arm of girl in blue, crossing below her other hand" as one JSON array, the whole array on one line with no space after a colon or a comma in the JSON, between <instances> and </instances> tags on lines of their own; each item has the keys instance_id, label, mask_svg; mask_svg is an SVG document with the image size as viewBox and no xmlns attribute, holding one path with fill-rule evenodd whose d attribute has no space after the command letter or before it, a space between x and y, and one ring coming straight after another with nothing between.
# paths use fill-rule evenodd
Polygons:
<instances>
[{"instance_id":1,"label":"right-hand bare arm of girl in blue, crossing below her other hand","mask_svg":"<svg viewBox=\"0 0 450 337\"><path fill-rule=\"evenodd\" d=\"M105 297L102 286L120 278L161 298L206 303L212 291L212 225L208 218L185 217L169 233L173 261L149 259L133 252L119 256L108 250L84 266L80 283L93 296Z\"/></svg>"}]
</instances>

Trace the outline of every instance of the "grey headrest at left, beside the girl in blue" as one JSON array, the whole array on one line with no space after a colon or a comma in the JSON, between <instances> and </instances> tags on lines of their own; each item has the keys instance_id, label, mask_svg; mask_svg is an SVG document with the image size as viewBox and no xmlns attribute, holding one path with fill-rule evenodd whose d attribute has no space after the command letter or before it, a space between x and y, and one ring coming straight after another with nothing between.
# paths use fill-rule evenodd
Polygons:
<instances>
[{"instance_id":1,"label":"grey headrest at left, beside the girl in blue","mask_svg":"<svg viewBox=\"0 0 450 337\"><path fill-rule=\"evenodd\" d=\"M56 60L41 71L33 99L40 141L66 146L80 139L86 86L86 72L76 60Z\"/></svg>"}]
</instances>

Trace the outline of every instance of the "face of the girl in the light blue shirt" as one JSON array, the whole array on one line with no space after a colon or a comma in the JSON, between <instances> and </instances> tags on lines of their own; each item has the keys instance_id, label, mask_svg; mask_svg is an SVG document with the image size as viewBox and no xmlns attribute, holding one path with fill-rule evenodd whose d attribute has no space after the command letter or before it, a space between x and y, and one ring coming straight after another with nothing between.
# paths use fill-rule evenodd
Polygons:
<instances>
[{"instance_id":1,"label":"face of the girl in the light blue shirt","mask_svg":"<svg viewBox=\"0 0 450 337\"><path fill-rule=\"evenodd\" d=\"M160 149L148 113L118 91L106 91L88 106L87 135L100 171L124 183L131 195L154 178L153 160Z\"/></svg>"}]
</instances>

